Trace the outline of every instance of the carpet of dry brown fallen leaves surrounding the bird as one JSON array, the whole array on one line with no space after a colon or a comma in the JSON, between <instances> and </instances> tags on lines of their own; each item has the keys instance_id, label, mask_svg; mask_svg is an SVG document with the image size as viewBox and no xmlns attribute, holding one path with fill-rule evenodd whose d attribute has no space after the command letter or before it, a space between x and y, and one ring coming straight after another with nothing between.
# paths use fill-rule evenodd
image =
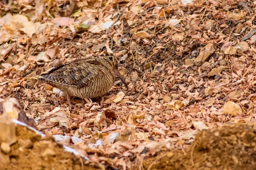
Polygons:
<instances>
[{"instance_id":1,"label":"carpet of dry brown fallen leaves surrounding the bird","mask_svg":"<svg viewBox=\"0 0 256 170\"><path fill-rule=\"evenodd\" d=\"M0 98L15 97L46 134L84 139L97 164L126 169L182 149L198 130L255 119L256 4L245 0L0 2ZM36 77L101 51L119 79L86 103Z\"/></svg>"}]
</instances>

